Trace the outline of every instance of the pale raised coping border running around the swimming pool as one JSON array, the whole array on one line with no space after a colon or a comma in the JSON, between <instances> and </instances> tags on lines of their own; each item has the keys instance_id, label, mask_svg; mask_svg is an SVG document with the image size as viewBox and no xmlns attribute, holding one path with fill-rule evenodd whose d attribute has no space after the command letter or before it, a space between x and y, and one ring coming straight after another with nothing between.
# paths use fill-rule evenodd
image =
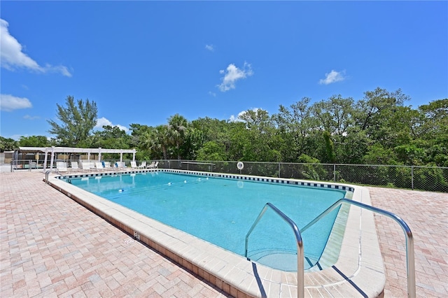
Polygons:
<instances>
[{"instance_id":1,"label":"pale raised coping border running around the swimming pool","mask_svg":"<svg viewBox=\"0 0 448 298\"><path fill-rule=\"evenodd\" d=\"M311 187L329 187L328 185L332 185L330 187L333 188L337 186L337 189L346 187L346 190L353 191L353 200L371 205L367 188L342 183L169 169L130 170L120 171L117 174L154 173L155 171L221 176L241 180L251 180L255 177L267 179L266 182L292 181L293 184L305 183L306 186ZM64 176L75 178L114 174L116 173L102 171L70 173ZM241 255L147 218L113 201L81 190L59 178L60 176L50 176L48 184L230 295L234 297L297 297L296 272L272 269L247 260ZM346 227L339 233L343 234L343 239L337 262L322 271L305 271L305 297L381 297L384 295L386 276L373 213L350 206ZM304 245L306 246L306 243Z\"/></svg>"}]
</instances>

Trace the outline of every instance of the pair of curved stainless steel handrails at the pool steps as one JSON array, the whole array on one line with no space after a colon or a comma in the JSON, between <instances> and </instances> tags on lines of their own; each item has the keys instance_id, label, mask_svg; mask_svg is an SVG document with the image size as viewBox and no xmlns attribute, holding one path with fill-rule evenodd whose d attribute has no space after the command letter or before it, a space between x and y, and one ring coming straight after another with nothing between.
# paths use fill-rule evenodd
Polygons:
<instances>
[{"instance_id":1,"label":"pair of curved stainless steel handrails at the pool steps","mask_svg":"<svg viewBox=\"0 0 448 298\"><path fill-rule=\"evenodd\" d=\"M318 215L314 220L311 220L309 224L305 225L301 230L297 228L297 225L293 220L288 218L287 215L285 215L283 212L279 210L279 208L276 208L271 203L266 203L265 206L260 211L260 214L258 215L258 218L253 222L253 225L251 229L246 234L246 253L245 256L247 257L247 251L248 251L248 239L251 235L253 229L258 224L258 222L261 220L262 216L267 211L267 208L272 208L272 210L275 211L278 215L280 215L283 220L285 220L288 225L293 229L295 240L297 243L297 298L303 298L304 297L304 250L303 250L303 241L302 241L302 233L306 231L309 227L314 225L318 220L321 220L325 215L330 213L331 211L335 210L335 208L339 207L342 204L352 204L355 206L358 206L360 208L367 209L369 211L372 211L374 213L379 213L382 215L386 215L389 218L392 218L395 220L395 222L398 222L400 227L402 227L403 232L405 232L406 236L406 267L407 267L407 297L409 298L415 298L416 297L416 291L415 291L415 261L414 261L414 237L412 236L411 229L409 229L409 226L406 224L404 220L402 220L400 217L395 215L394 213L385 211L380 208L376 208L374 206L366 205L363 203L360 203L358 201L352 201L351 199L339 199L335 202L335 204L332 204L330 207L327 208L327 210L323 211L320 215ZM300 283L302 284L302 287L299 287Z\"/></svg>"}]
</instances>

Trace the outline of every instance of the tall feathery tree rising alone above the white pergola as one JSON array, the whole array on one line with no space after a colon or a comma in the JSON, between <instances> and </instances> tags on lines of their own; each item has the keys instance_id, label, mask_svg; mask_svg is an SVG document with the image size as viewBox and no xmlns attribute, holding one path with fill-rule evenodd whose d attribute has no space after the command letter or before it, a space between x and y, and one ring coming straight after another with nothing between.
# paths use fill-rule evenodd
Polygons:
<instances>
[{"instance_id":1,"label":"tall feathery tree rising alone above the white pergola","mask_svg":"<svg viewBox=\"0 0 448 298\"><path fill-rule=\"evenodd\" d=\"M79 99L75 102L72 96L66 97L66 107L57 106L57 118L48 120L50 134L55 134L61 146L88 146L88 138L97 124L97 104L94 101Z\"/></svg>"}]
</instances>

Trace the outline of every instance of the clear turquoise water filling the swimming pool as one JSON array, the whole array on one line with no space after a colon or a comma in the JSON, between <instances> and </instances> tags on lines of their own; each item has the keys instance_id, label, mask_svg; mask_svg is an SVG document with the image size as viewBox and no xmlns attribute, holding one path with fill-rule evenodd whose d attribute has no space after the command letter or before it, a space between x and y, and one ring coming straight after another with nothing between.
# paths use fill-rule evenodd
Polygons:
<instances>
[{"instance_id":1,"label":"clear turquoise water filling the swimming pool","mask_svg":"<svg viewBox=\"0 0 448 298\"><path fill-rule=\"evenodd\" d=\"M345 194L318 187L164 172L71 178L71 184L239 255L244 255L246 234L267 202L301 229ZM336 215L337 210L302 234L306 265L318 261ZM285 264L275 263L296 252L292 229L269 209L250 236L248 256L285 269ZM286 267L296 269L296 262L285 260Z\"/></svg>"}]
</instances>

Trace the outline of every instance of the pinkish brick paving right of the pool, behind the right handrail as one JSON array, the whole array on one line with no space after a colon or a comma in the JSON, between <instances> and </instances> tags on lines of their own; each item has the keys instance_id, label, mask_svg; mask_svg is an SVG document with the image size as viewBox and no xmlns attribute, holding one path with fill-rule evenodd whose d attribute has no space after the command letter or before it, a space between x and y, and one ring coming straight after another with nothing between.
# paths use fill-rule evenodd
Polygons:
<instances>
[{"instance_id":1,"label":"pinkish brick paving right of the pool, behind the right handrail","mask_svg":"<svg viewBox=\"0 0 448 298\"><path fill-rule=\"evenodd\" d=\"M416 297L448 297L448 194L368 187L372 205L405 220L414 236ZM407 297L405 234L375 215L386 267L385 297Z\"/></svg>"}]
</instances>

